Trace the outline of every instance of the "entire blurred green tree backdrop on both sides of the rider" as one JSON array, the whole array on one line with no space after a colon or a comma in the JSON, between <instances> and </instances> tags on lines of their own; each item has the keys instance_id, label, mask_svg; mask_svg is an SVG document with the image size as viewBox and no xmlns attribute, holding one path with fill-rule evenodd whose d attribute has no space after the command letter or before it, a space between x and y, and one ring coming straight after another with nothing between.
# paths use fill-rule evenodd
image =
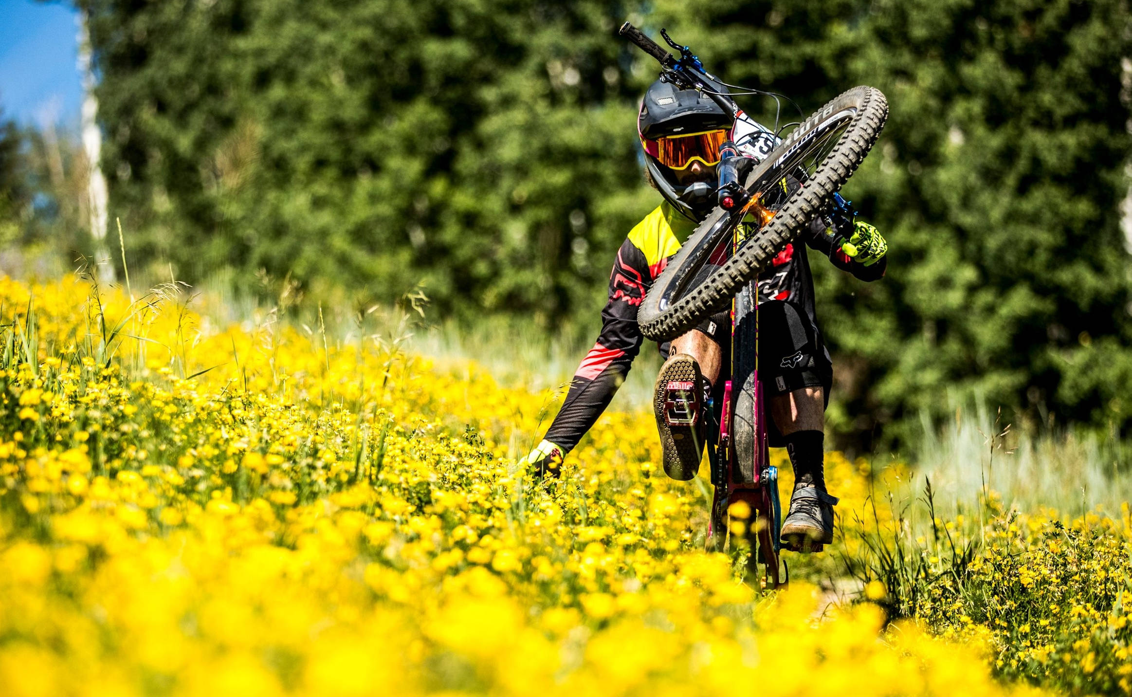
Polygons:
<instances>
[{"instance_id":1,"label":"entire blurred green tree backdrop on both sides of the rider","mask_svg":"<svg viewBox=\"0 0 1132 697\"><path fill-rule=\"evenodd\" d=\"M636 6L79 5L112 215L179 278L263 268L386 300L423 279L446 313L595 321L614 250L657 203L634 137L654 67L614 36ZM648 32L805 115L857 84L889 96L846 191L889 238L889 277L814 264L840 445L907 438L946 387L1015 422L1126 430L1126 0L646 9ZM773 101L745 105L774 121Z\"/></svg>"}]
</instances>

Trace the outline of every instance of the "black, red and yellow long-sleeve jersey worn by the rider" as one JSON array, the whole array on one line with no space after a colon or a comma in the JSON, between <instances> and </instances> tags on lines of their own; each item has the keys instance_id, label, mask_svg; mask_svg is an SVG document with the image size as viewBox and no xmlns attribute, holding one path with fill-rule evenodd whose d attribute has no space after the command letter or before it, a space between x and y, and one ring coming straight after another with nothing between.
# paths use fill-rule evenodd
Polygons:
<instances>
[{"instance_id":1,"label":"black, red and yellow long-sleeve jersey worn by the rider","mask_svg":"<svg viewBox=\"0 0 1132 697\"><path fill-rule=\"evenodd\" d=\"M566 402L550 424L546 440L564 451L573 450L601 416L625 381L633 359L644 342L637 325L641 301L694 230L695 223L664 203L629 232L617 250L609 276L609 300L601 311L601 334L577 367ZM826 234L824 222L815 218L758 276L760 302L782 300L796 304L809 318L815 336L821 335L817 333L814 281L806 247L825 255L834 266L861 281L874 281L884 275L885 259L865 266L841 251L834 240L834 235Z\"/></svg>"}]
</instances>

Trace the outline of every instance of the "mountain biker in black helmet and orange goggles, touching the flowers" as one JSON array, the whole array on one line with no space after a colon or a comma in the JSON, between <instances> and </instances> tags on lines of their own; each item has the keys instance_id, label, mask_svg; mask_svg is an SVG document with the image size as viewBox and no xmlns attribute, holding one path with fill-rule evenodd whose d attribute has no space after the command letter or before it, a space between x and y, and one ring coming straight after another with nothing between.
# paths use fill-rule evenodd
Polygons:
<instances>
[{"instance_id":1,"label":"mountain biker in black helmet and orange goggles, touching the flowers","mask_svg":"<svg viewBox=\"0 0 1132 697\"><path fill-rule=\"evenodd\" d=\"M736 121L694 89L657 80L641 103L637 130L645 174L663 201L628 234L614 261L609 300L593 348L578 365L566 401L543 440L523 458L538 476L557 476L563 457L608 406L624 382L643 336L637 308L680 244L714 208L719 148L732 140L740 154L761 161L777 145L774 134L740 113ZM694 187L707 182L709 187ZM815 218L758 276L758 377L771 419L770 445L784 446L795 472L782 537L830 543L838 499L825 490L824 412L832 362L817 328L814 284L806 247L861 281L884 275L887 244L875 227L847 216ZM667 361L657 378L657 427L664 472L689 480L700 468L707 419L696 425L668 425L663 404L668 382L694 376L705 393L721 396L720 370L730 348L730 318L720 312L687 334L660 345ZM706 401L704 401L706 402Z\"/></svg>"}]
</instances>

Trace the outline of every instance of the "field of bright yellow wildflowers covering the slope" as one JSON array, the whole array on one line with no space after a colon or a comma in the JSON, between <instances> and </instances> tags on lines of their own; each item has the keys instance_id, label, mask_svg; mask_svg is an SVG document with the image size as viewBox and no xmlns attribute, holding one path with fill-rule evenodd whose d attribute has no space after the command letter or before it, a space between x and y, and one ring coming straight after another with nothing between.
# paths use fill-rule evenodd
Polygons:
<instances>
[{"instance_id":1,"label":"field of bright yellow wildflowers covering the slope","mask_svg":"<svg viewBox=\"0 0 1132 697\"><path fill-rule=\"evenodd\" d=\"M741 551L703 549L704 491L653 465L650 414L607 415L541 487L508 455L554 395L474 365L269 316L217 328L171 292L0 279L0 695L1034 689L993 678L1004 635L947 610L955 588L884 627L878 604L744 580ZM848 533L815 568L868 552L861 520L899 532L867 468L830 459Z\"/></svg>"}]
</instances>

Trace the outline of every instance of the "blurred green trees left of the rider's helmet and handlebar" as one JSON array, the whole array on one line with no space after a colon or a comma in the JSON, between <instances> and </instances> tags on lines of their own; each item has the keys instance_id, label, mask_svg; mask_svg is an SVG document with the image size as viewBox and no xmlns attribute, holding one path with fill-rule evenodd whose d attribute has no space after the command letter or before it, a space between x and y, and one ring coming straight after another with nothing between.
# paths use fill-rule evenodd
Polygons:
<instances>
[{"instance_id":1,"label":"blurred green trees left of the rider's helmet and handlebar","mask_svg":"<svg viewBox=\"0 0 1132 697\"><path fill-rule=\"evenodd\" d=\"M87 7L113 206L180 277L555 317L650 204L600 3Z\"/></svg>"}]
</instances>

